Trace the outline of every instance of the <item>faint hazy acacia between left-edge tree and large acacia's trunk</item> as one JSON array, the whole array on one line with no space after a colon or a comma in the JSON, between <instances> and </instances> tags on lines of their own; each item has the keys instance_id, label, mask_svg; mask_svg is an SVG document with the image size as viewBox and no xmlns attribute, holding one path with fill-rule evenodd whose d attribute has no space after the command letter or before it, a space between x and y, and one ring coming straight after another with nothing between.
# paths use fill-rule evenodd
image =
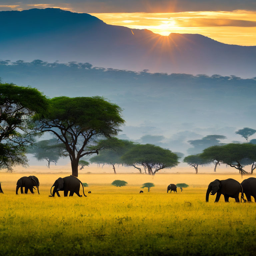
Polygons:
<instances>
[{"instance_id":1,"label":"faint hazy acacia between left-edge tree and large acacia's trunk","mask_svg":"<svg viewBox=\"0 0 256 256\"><path fill-rule=\"evenodd\" d=\"M56 138L49 140L40 140L35 145L27 150L38 161L47 161L47 167L50 168L50 163L56 163L61 157L67 156L62 142Z\"/></svg>"}]
</instances>

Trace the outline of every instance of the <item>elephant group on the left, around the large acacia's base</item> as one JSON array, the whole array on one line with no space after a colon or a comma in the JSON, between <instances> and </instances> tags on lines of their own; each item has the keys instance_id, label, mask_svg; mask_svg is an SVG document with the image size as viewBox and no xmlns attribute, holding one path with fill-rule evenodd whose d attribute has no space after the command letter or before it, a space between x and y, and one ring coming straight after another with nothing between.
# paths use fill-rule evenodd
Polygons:
<instances>
[{"instance_id":1,"label":"elephant group on the left, around the large acacia's base","mask_svg":"<svg viewBox=\"0 0 256 256\"><path fill-rule=\"evenodd\" d=\"M69 192L69 196L73 196L74 193L76 193L79 197L82 197L79 194L80 183L82 185L83 194L84 194L84 186L78 178L76 178L72 175L70 175L68 177L64 177L64 178L58 178L52 185L52 187L54 187L53 192L52 192L52 187L51 187L51 195L50 196L54 197L55 194L57 194L57 196L60 196L59 191L64 191L64 196L68 196L68 192ZM35 189L34 186L36 186L37 192L39 194L39 180L36 176L21 177L17 181L16 194L18 195L19 188L20 188L21 194L24 194L23 188L25 188L25 194L28 193L28 190L30 190L30 192L32 194L34 194L34 191L33 191L33 189ZM0 184L0 193L3 193L1 184ZM86 195L84 194L84 196L86 196Z\"/></svg>"}]
</instances>

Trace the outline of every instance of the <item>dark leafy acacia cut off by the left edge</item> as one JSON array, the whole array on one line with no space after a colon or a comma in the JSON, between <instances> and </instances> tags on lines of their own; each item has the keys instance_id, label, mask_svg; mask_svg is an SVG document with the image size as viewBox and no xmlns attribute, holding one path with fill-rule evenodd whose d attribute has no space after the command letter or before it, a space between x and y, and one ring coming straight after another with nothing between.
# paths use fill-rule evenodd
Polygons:
<instances>
[{"instance_id":1,"label":"dark leafy acacia cut off by the left edge","mask_svg":"<svg viewBox=\"0 0 256 256\"><path fill-rule=\"evenodd\" d=\"M0 81L0 169L27 165L26 146L34 142L30 118L47 105L37 89Z\"/></svg>"}]
</instances>

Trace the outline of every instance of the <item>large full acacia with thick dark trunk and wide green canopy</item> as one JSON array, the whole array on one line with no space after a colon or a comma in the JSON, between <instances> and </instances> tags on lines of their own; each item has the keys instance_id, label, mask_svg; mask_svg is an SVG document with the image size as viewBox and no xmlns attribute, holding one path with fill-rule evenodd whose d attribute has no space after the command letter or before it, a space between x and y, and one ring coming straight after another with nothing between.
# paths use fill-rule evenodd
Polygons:
<instances>
[{"instance_id":1,"label":"large full acacia with thick dark trunk and wide green canopy","mask_svg":"<svg viewBox=\"0 0 256 256\"><path fill-rule=\"evenodd\" d=\"M72 175L77 177L79 159L98 154L97 144L92 147L95 139L118 133L124 123L121 108L101 97L55 97L49 105L47 112L35 116L37 129L53 133L64 143Z\"/></svg>"}]
</instances>

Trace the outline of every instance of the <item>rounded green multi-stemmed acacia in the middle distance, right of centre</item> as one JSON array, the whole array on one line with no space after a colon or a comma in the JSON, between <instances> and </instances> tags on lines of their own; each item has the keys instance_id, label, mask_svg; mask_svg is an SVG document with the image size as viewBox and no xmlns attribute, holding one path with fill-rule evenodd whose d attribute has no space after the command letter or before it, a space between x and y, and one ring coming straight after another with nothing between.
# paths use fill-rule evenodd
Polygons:
<instances>
[{"instance_id":1,"label":"rounded green multi-stemmed acacia in the middle distance, right of centre","mask_svg":"<svg viewBox=\"0 0 256 256\"><path fill-rule=\"evenodd\" d=\"M121 159L128 165L143 166L145 172L148 170L149 175L155 175L161 169L172 168L179 164L178 156L172 151L152 144L135 145Z\"/></svg>"}]
</instances>

